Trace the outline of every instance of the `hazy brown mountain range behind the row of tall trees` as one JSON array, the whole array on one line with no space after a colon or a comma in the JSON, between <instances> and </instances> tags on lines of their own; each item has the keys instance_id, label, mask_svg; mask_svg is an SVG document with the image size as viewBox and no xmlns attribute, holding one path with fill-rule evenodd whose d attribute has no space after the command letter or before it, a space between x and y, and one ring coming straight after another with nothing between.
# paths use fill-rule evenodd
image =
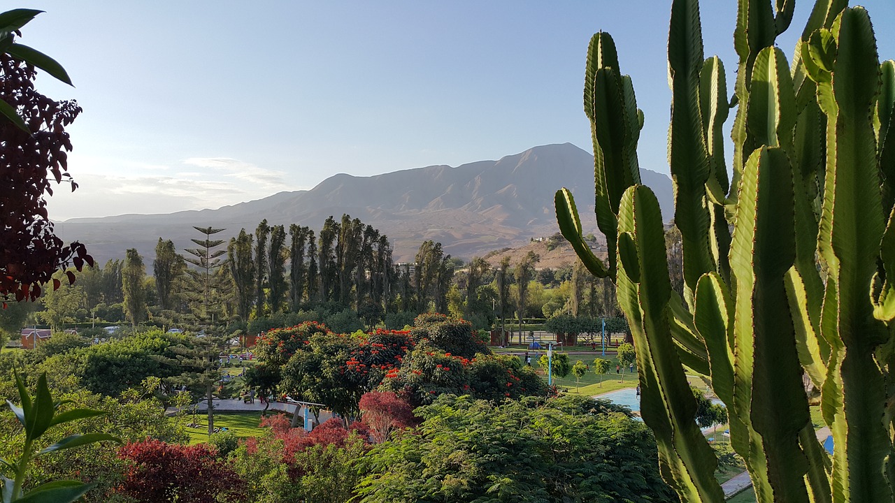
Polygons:
<instances>
[{"instance_id":1,"label":"hazy brown mountain range behind the row of tall trees","mask_svg":"<svg viewBox=\"0 0 895 503\"><path fill-rule=\"evenodd\" d=\"M671 180L641 170L644 184L659 198L662 215L673 211ZM593 215L593 158L571 143L543 145L497 161L462 166L426 166L374 176L333 175L310 191L279 192L219 209L155 215L72 218L55 224L66 242L87 244L99 263L124 258L136 248L147 269L158 238L178 249L198 238L192 226L223 227L229 240L241 228L298 224L320 230L330 215L347 213L388 235L396 261L413 261L420 243L440 242L445 252L470 259L533 237L558 232L553 194L567 187L575 195L585 232L600 236Z\"/></svg>"}]
</instances>

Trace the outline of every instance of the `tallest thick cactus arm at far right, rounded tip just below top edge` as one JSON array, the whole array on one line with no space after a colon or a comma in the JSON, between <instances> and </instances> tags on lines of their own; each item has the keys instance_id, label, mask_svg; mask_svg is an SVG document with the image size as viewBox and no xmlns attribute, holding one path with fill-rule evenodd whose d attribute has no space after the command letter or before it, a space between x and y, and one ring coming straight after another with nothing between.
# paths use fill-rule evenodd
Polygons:
<instances>
[{"instance_id":1,"label":"tallest thick cactus arm at far right, rounded tip just below top edge","mask_svg":"<svg viewBox=\"0 0 895 503\"><path fill-rule=\"evenodd\" d=\"M891 455L891 439L880 421L885 390L874 360L888 333L866 302L884 226L872 121L879 62L864 9L843 11L831 35L835 53L818 45L823 31L812 35L809 48L815 63L831 66L833 75L830 82L818 82L818 101L828 115L828 183L818 250L830 273L828 288L838 290L835 331L827 338L841 341L833 345L822 392L824 419L836 443L833 500L889 501L892 491L880 473Z\"/></svg>"}]
</instances>

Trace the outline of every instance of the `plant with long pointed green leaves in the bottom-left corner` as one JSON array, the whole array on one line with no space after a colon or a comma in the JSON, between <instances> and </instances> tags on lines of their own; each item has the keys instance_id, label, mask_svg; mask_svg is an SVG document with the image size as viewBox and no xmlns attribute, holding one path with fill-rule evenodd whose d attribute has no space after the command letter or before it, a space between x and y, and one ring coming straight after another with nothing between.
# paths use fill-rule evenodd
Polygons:
<instances>
[{"instance_id":1,"label":"plant with long pointed green leaves in the bottom-left corner","mask_svg":"<svg viewBox=\"0 0 895 503\"><path fill-rule=\"evenodd\" d=\"M8 472L0 475L0 480L3 481L0 501L3 503L72 503L81 498L95 484L85 484L80 481L53 481L24 492L23 485L31 460L59 450L77 448L102 440L119 440L106 433L74 434L38 450L38 440L50 427L101 415L104 412L91 409L71 409L63 413L58 412L59 407L66 402L53 401L53 396L50 395L47 386L46 373L41 374L38 378L35 396L29 395L18 373L15 374L15 382L19 388L21 406L17 406L9 400L6 401L6 404L12 409L25 431L25 444L17 462L0 459L0 470Z\"/></svg>"}]
</instances>

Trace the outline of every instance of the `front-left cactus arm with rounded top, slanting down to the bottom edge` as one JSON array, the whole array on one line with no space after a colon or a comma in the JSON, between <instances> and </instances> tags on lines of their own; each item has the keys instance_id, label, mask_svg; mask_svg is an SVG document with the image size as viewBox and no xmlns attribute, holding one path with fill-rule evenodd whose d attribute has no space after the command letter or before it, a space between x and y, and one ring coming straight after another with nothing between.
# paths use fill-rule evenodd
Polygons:
<instances>
[{"instance_id":1,"label":"front-left cactus arm with rounded top, slanting down to the bottom edge","mask_svg":"<svg viewBox=\"0 0 895 503\"><path fill-rule=\"evenodd\" d=\"M722 501L723 491L713 476L717 459L694 421L695 399L670 333L665 237L659 202L652 191L637 185L625 192L618 230L628 236L618 243L634 246L637 255L635 264L619 260L618 303L635 337L643 390L641 413L655 433L662 476L685 501Z\"/></svg>"}]
</instances>

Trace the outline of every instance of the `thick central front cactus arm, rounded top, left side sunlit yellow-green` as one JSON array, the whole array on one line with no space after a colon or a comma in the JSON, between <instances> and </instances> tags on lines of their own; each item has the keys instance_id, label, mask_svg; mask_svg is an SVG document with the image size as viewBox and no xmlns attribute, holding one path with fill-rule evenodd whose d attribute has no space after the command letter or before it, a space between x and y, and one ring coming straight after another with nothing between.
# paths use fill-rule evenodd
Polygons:
<instances>
[{"instance_id":1,"label":"thick central front cactus arm, rounded top, left side sunlit yellow-green","mask_svg":"<svg viewBox=\"0 0 895 503\"><path fill-rule=\"evenodd\" d=\"M734 410L749 411L749 473L758 499L807 501L808 463L798 432L810 418L783 281L795 260L786 153L755 150L739 192L730 257L737 281ZM787 414L777 412L784 409ZM762 452L766 465L755 463Z\"/></svg>"}]
</instances>

